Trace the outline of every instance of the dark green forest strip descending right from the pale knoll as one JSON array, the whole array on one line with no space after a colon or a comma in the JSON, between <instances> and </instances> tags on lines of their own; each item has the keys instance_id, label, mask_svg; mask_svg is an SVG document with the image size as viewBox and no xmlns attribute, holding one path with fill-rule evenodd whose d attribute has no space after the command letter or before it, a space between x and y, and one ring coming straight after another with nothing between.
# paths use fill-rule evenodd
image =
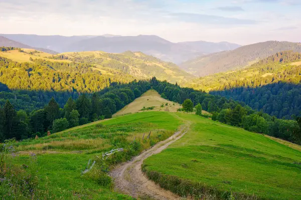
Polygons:
<instances>
[{"instance_id":1,"label":"dark green forest strip descending right from the pale knoll","mask_svg":"<svg viewBox=\"0 0 301 200\"><path fill-rule=\"evenodd\" d=\"M179 103L190 99L193 105L198 107L200 103L203 110L213 114L213 120L301 144L301 121L298 117L295 117L297 120L278 119L262 111L253 110L244 102L227 99L224 96L180 87L178 84L158 81L156 78L152 78L151 82L153 88L164 98Z\"/></svg>"}]
</instances>

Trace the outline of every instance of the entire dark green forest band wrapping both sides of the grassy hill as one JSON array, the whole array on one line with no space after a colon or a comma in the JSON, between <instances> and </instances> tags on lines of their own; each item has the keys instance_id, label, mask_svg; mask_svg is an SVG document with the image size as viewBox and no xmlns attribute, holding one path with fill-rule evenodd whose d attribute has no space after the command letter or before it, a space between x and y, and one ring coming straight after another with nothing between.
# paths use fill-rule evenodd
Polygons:
<instances>
[{"instance_id":1,"label":"entire dark green forest band wrapping both sides of the grassy hill","mask_svg":"<svg viewBox=\"0 0 301 200\"><path fill-rule=\"evenodd\" d=\"M150 81L140 80L124 84L114 82L99 92L82 93L77 96L77 99L69 96L63 106L51 97L44 107L41 108L41 104L32 111L16 109L10 100L6 100L0 108L1 138L3 140L12 137L24 139L36 135L43 136L48 130L57 132L90 121L110 118L113 113L151 87L156 89L162 97L181 104L186 99L191 99L192 106L197 105L198 109L201 106L202 109L211 112L213 120L288 141L301 142L297 120L277 119L262 111L253 110L244 102L208 94L201 90L180 87L178 84L159 81L156 77ZM7 93L12 92L7 91ZM69 93L65 96L67 94ZM48 97L50 96L51 93ZM27 100L31 102L30 99ZM20 102L22 102L21 99Z\"/></svg>"}]
</instances>

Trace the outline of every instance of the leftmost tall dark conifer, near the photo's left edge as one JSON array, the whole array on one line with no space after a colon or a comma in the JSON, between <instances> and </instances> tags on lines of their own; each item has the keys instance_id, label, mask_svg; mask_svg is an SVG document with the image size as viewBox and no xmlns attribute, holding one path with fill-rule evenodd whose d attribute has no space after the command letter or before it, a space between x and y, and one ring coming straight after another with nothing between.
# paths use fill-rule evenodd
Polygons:
<instances>
[{"instance_id":1,"label":"leftmost tall dark conifer, near the photo's left edge","mask_svg":"<svg viewBox=\"0 0 301 200\"><path fill-rule=\"evenodd\" d=\"M6 138L13 138L13 124L16 116L16 110L12 103L7 100L4 105L4 113L6 116L4 133Z\"/></svg>"}]
</instances>

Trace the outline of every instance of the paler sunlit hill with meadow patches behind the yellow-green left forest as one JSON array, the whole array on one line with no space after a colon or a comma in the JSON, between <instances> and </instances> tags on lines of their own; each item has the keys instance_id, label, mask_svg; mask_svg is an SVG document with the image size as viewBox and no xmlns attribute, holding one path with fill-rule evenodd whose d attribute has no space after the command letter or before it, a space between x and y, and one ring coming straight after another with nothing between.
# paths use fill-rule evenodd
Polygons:
<instances>
[{"instance_id":1,"label":"paler sunlit hill with meadow patches behind the yellow-green left forest","mask_svg":"<svg viewBox=\"0 0 301 200\"><path fill-rule=\"evenodd\" d=\"M165 62L142 52L65 52L60 53L58 56L53 56L53 58L94 64L97 70L101 70L101 67L117 69L136 78L151 78L156 76L160 80L168 80L175 83L187 82L194 77L172 62Z\"/></svg>"}]
</instances>

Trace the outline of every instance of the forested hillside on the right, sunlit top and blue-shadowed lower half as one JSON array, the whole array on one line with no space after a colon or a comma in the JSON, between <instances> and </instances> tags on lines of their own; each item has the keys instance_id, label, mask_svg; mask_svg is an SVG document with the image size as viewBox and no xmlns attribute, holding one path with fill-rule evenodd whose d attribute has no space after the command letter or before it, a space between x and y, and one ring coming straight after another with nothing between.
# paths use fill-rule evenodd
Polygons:
<instances>
[{"instance_id":1,"label":"forested hillside on the right, sunlit top and blue-shadowed lower half","mask_svg":"<svg viewBox=\"0 0 301 200\"><path fill-rule=\"evenodd\" d=\"M240 70L195 79L186 86L245 102L278 118L301 112L301 54L276 53Z\"/></svg>"}]
</instances>

